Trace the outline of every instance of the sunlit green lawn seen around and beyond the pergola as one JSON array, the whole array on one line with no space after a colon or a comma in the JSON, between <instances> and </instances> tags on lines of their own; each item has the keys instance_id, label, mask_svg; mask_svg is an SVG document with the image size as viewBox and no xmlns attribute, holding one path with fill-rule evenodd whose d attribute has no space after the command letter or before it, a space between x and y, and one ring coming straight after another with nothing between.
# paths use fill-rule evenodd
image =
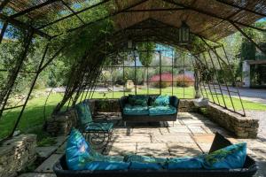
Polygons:
<instances>
[{"instance_id":1,"label":"sunlit green lawn seen around and beyond the pergola","mask_svg":"<svg viewBox=\"0 0 266 177\"><path fill-rule=\"evenodd\" d=\"M172 94L172 88L162 89L162 95ZM194 89L190 88L174 88L173 93L175 96L179 98L193 98L194 97ZM135 91L126 92L125 95L135 94ZM146 89L137 89L137 94L147 94ZM149 94L160 94L160 89L149 89ZM123 92L114 92L114 93L106 93L103 94L102 92L95 92L93 97L94 98L120 98L123 96ZM218 97L218 99L217 99ZM223 105L223 97L221 95L217 95L214 97L215 103ZM19 129L22 133L33 133L38 135L38 144L45 145L49 143L53 143L53 139L43 133L43 104L45 103L46 96L40 96L37 98L32 98L28 101L26 110L20 120ZM46 105L46 115L49 118L54 107L59 103L62 99L61 94L52 94L47 102ZM211 101L214 101L211 99ZM232 108L231 100L229 96L224 96L224 102L227 104L228 107ZM232 98L232 102L235 106L236 110L241 110L242 106L238 98ZM246 110L258 110L258 111L266 111L266 105L264 104L257 104L250 101L243 100L243 104ZM0 119L0 139L4 138L8 134L11 133L12 128L15 124L16 119L20 114L20 108L9 110L4 112L3 117Z\"/></svg>"}]
</instances>

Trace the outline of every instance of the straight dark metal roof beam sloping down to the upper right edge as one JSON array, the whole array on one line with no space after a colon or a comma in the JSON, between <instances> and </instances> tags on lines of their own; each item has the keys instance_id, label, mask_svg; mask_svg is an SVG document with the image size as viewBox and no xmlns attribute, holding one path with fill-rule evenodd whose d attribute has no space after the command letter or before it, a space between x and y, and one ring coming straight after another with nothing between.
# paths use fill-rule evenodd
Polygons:
<instances>
[{"instance_id":1,"label":"straight dark metal roof beam sloping down to the upper right edge","mask_svg":"<svg viewBox=\"0 0 266 177\"><path fill-rule=\"evenodd\" d=\"M239 22L239 21L236 21L236 20L226 19L226 18L223 18L223 17L221 17L221 16L219 16L219 15L213 13L213 12L207 12L207 11L200 10L198 8L195 8L195 7L192 7L192 6L189 6L189 5L176 3L176 1L173 1L173 0L162 0L162 1L167 2L169 4L175 4L175 5L179 6L179 7L187 8L188 10L191 10L191 11L194 11L194 12L199 12L201 14L205 14L205 15L213 17L215 19L223 19L223 20L228 21L230 23L239 24L239 25L241 25L243 27L250 27L250 28L262 31L262 32L266 32L266 29L262 29L262 28L259 28L259 27L253 27L253 26L247 25L245 23L242 23L242 22Z\"/></svg>"}]
</instances>

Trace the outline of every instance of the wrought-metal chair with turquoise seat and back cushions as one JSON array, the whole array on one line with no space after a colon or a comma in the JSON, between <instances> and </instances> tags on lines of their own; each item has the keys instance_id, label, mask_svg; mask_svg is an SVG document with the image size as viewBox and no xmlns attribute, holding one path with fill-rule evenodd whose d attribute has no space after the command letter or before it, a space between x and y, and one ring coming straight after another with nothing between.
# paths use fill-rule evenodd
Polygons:
<instances>
[{"instance_id":1,"label":"wrought-metal chair with turquoise seat and back cushions","mask_svg":"<svg viewBox=\"0 0 266 177\"><path fill-rule=\"evenodd\" d=\"M88 100L75 105L78 127L94 149L105 149L113 134L113 123L93 120Z\"/></svg>"}]
</instances>

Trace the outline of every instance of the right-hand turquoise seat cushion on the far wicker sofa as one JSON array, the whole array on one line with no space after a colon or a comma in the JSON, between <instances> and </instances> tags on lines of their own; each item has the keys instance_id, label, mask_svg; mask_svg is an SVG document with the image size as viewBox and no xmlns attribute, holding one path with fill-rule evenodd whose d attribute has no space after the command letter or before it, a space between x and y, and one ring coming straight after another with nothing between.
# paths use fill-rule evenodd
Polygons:
<instances>
[{"instance_id":1,"label":"right-hand turquoise seat cushion on the far wicker sofa","mask_svg":"<svg viewBox=\"0 0 266 177\"><path fill-rule=\"evenodd\" d=\"M150 116L170 115L175 113L176 113L176 108L172 105L167 105L167 106L159 105L159 106L149 107Z\"/></svg>"}]
</instances>

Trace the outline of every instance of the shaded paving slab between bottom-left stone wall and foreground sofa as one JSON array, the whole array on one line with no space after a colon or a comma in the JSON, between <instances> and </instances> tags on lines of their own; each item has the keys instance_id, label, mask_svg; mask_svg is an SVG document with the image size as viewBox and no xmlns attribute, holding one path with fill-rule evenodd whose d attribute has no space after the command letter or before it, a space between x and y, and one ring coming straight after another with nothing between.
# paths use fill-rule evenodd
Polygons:
<instances>
[{"instance_id":1,"label":"shaded paving slab between bottom-left stone wall and foreground sofa","mask_svg":"<svg viewBox=\"0 0 266 177\"><path fill-rule=\"evenodd\" d=\"M53 173L52 166L62 157L62 154L52 154L50 158L47 158L42 165L39 165L36 169L36 173Z\"/></svg>"}]
</instances>

